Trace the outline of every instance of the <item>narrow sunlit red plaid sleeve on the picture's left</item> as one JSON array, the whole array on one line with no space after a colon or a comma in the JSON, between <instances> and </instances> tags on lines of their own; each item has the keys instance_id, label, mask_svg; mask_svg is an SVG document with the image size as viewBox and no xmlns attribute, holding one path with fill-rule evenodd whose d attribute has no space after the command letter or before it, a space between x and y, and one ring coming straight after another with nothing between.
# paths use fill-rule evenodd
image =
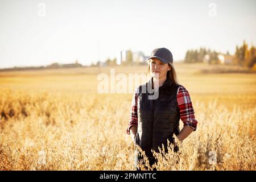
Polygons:
<instances>
[{"instance_id":1,"label":"narrow sunlit red plaid sleeve on the picture's left","mask_svg":"<svg viewBox=\"0 0 256 182\"><path fill-rule=\"evenodd\" d=\"M129 125L127 127L127 134L130 135L130 129L131 126L137 126L138 127L138 113L137 113L137 101L138 101L138 89L135 89L135 92L133 94L133 100L131 101L131 112L129 116Z\"/></svg>"}]
</instances>

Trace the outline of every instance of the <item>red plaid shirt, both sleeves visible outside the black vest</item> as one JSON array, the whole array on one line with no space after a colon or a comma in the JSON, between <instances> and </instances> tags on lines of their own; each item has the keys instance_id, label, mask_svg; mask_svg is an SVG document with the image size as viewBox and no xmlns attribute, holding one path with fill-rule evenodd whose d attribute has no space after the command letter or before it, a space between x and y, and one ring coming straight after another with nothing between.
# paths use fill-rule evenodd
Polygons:
<instances>
[{"instance_id":1,"label":"red plaid shirt, both sleeves visible outside the black vest","mask_svg":"<svg viewBox=\"0 0 256 182\"><path fill-rule=\"evenodd\" d=\"M130 134L131 126L138 127L137 101L138 93L134 92L133 101L131 102L131 113L129 117L129 126L127 127L127 134ZM184 126L192 127L192 129L196 131L197 120L195 118L192 102L188 91L181 85L177 90L177 105L180 109L180 119L183 121Z\"/></svg>"}]
</instances>

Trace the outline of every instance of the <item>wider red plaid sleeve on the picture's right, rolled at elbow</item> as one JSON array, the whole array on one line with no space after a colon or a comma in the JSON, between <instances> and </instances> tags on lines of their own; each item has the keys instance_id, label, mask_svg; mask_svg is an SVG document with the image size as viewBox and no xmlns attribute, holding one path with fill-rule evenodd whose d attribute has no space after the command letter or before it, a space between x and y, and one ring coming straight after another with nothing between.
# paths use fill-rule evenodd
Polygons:
<instances>
[{"instance_id":1,"label":"wider red plaid sleeve on the picture's right, rolled at elbow","mask_svg":"<svg viewBox=\"0 0 256 182\"><path fill-rule=\"evenodd\" d=\"M177 90L177 104L180 109L180 119L183 121L184 126L192 127L192 129L196 131L197 120L195 118L191 98L188 91L181 85Z\"/></svg>"}]
</instances>

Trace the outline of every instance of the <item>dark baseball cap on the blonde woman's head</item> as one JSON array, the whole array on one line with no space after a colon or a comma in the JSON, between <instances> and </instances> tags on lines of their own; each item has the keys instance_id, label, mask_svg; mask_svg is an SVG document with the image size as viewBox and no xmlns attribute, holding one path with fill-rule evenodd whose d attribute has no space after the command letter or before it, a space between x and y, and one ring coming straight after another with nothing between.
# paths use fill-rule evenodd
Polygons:
<instances>
[{"instance_id":1,"label":"dark baseball cap on the blonde woman's head","mask_svg":"<svg viewBox=\"0 0 256 182\"><path fill-rule=\"evenodd\" d=\"M154 49L151 53L151 56L147 60L150 60L151 58L157 58L163 63L174 62L171 51L164 47Z\"/></svg>"}]
</instances>

